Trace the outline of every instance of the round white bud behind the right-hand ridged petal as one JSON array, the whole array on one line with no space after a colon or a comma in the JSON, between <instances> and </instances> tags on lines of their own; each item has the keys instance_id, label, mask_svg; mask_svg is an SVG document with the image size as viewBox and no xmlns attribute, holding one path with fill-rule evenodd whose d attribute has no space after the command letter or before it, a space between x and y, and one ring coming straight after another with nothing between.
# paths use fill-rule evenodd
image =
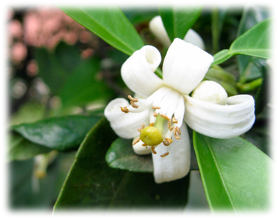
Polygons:
<instances>
[{"instance_id":1,"label":"round white bud behind the right-hand ridged petal","mask_svg":"<svg viewBox=\"0 0 278 219\"><path fill-rule=\"evenodd\" d=\"M220 84L214 81L202 81L193 90L191 97L210 103L225 105L228 95Z\"/></svg>"}]
</instances>

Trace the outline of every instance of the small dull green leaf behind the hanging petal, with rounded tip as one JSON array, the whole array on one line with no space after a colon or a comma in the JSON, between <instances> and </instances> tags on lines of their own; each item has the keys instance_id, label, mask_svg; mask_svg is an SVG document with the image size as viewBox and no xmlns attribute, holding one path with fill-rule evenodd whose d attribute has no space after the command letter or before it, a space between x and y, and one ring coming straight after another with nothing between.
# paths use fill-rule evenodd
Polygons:
<instances>
[{"instance_id":1,"label":"small dull green leaf behind the hanging petal, with rounded tip","mask_svg":"<svg viewBox=\"0 0 278 219\"><path fill-rule=\"evenodd\" d=\"M112 144L105 159L112 168L134 172L153 172L152 156L137 155L132 149L132 140L117 138Z\"/></svg>"}]
</instances>

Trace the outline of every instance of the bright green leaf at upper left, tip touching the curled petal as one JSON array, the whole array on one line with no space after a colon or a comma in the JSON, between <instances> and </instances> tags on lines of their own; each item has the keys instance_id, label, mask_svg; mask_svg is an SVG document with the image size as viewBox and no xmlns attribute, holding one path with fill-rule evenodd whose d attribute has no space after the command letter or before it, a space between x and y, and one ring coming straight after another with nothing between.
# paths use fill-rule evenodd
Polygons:
<instances>
[{"instance_id":1,"label":"bright green leaf at upper left, tip touching the curled petal","mask_svg":"<svg viewBox=\"0 0 278 219\"><path fill-rule=\"evenodd\" d=\"M67 15L111 46L131 55L145 44L119 8L64 8Z\"/></svg>"}]
</instances>

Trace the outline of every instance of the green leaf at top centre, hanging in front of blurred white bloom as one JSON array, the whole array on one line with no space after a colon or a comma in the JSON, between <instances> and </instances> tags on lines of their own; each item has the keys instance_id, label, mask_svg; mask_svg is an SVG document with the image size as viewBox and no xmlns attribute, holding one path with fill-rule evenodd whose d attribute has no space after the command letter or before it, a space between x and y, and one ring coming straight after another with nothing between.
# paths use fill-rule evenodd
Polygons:
<instances>
[{"instance_id":1,"label":"green leaf at top centre, hanging in front of blurred white bloom","mask_svg":"<svg viewBox=\"0 0 278 219\"><path fill-rule=\"evenodd\" d=\"M202 8L159 8L159 14L170 40L183 39L201 11Z\"/></svg>"}]
</instances>

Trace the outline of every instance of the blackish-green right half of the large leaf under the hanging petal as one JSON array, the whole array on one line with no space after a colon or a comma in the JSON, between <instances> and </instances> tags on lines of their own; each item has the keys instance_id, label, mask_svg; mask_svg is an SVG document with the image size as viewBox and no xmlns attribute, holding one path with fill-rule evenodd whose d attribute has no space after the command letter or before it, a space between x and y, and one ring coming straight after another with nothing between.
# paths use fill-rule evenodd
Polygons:
<instances>
[{"instance_id":1,"label":"blackish-green right half of the large leaf under the hanging petal","mask_svg":"<svg viewBox=\"0 0 278 219\"><path fill-rule=\"evenodd\" d=\"M127 210L184 208L188 200L189 177L190 174L179 180L156 184L151 173L127 172L109 208Z\"/></svg>"}]
</instances>

